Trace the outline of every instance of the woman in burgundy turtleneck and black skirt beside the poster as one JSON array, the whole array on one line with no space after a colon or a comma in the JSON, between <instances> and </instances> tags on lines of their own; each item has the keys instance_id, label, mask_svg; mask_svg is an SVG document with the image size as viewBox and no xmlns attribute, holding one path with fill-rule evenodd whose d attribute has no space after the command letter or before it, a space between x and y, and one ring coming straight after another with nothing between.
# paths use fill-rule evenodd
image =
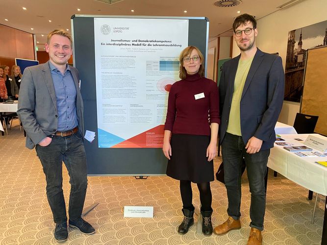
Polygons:
<instances>
[{"instance_id":1,"label":"woman in burgundy turtleneck and black skirt beside the poster","mask_svg":"<svg viewBox=\"0 0 327 245\"><path fill-rule=\"evenodd\" d=\"M178 232L187 233L194 222L193 182L200 192L202 233L209 236L212 234L210 181L214 180L213 158L220 123L218 87L204 77L203 56L198 48L184 49L179 62L181 80L169 92L162 150L169 159L167 175L178 179L180 184L184 218Z\"/></svg>"}]
</instances>

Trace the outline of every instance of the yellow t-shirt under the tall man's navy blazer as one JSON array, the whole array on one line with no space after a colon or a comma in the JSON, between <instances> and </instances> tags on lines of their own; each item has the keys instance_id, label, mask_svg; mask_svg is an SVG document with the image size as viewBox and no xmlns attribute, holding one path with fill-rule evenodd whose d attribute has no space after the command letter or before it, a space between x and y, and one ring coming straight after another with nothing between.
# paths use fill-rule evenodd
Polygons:
<instances>
[{"instance_id":1,"label":"yellow t-shirt under the tall man's navy blazer","mask_svg":"<svg viewBox=\"0 0 327 245\"><path fill-rule=\"evenodd\" d=\"M245 80L247 79L253 58L254 56L247 60L239 60L236 75L235 75L234 91L233 91L233 98L231 100L227 132L238 136L242 136L240 102L241 102Z\"/></svg>"}]
</instances>

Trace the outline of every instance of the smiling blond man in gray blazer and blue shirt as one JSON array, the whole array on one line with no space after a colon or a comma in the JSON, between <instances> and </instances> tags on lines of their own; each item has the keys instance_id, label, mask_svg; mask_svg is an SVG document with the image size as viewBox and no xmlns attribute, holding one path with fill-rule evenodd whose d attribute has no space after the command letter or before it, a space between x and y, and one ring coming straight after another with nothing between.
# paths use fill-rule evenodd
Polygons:
<instances>
[{"instance_id":1,"label":"smiling blond man in gray blazer and blue shirt","mask_svg":"<svg viewBox=\"0 0 327 245\"><path fill-rule=\"evenodd\" d=\"M47 181L47 197L56 224L54 238L68 238L66 205L62 191L62 162L71 183L69 225L84 234L95 229L81 218L87 167L83 146L83 101L78 71L67 64L72 37L64 30L49 33L46 51L50 61L24 71L17 114L26 131L26 147L35 147Z\"/></svg>"}]
</instances>

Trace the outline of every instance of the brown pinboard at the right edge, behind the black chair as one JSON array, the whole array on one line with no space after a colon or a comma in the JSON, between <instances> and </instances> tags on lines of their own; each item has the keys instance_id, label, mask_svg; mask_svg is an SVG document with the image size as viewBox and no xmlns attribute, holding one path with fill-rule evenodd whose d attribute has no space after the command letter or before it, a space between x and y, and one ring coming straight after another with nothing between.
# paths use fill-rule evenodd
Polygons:
<instances>
[{"instance_id":1,"label":"brown pinboard at the right edge, behind the black chair","mask_svg":"<svg viewBox=\"0 0 327 245\"><path fill-rule=\"evenodd\" d=\"M327 47L308 49L300 112L319 116L315 132L327 135Z\"/></svg>"}]
</instances>

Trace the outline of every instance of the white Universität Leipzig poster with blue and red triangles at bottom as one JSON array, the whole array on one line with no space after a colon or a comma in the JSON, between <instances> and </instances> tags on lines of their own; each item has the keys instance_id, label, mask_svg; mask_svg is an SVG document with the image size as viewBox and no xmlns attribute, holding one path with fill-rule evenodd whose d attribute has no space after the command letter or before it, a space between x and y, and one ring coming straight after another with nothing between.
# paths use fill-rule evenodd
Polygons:
<instances>
[{"instance_id":1,"label":"white Universit\u00e4t Leipzig poster with blue and red triangles at bottom","mask_svg":"<svg viewBox=\"0 0 327 245\"><path fill-rule=\"evenodd\" d=\"M188 20L94 18L100 148L159 148Z\"/></svg>"}]
</instances>

